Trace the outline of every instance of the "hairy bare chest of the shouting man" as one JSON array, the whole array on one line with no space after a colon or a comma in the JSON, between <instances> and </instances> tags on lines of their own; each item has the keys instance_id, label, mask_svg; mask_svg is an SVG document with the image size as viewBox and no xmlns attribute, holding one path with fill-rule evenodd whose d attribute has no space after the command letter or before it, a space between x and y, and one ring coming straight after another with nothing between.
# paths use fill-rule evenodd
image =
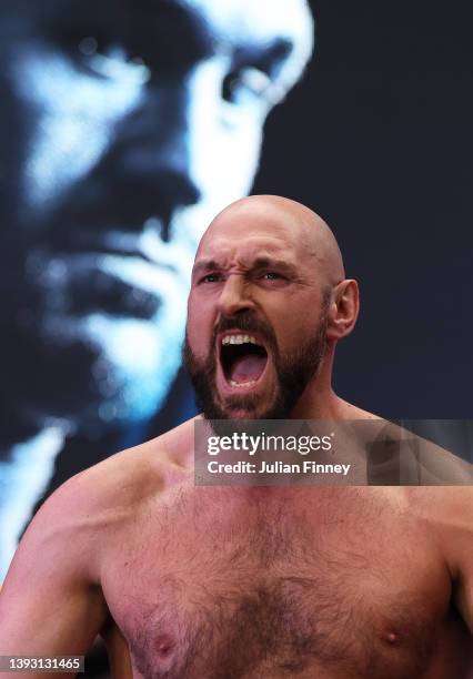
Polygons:
<instances>
[{"instance_id":1,"label":"hairy bare chest of the shouting man","mask_svg":"<svg viewBox=\"0 0 473 679\"><path fill-rule=\"evenodd\" d=\"M430 668L462 629L421 527L358 489L313 490L184 494L142 517L104 586L137 676L449 676Z\"/></svg>"}]
</instances>

